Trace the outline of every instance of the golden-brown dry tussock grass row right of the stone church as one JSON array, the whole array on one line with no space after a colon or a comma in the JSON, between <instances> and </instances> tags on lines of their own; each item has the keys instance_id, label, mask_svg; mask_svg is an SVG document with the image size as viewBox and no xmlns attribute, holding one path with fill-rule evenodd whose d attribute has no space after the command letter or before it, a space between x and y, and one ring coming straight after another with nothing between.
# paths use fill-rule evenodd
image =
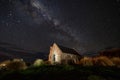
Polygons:
<instances>
[{"instance_id":1,"label":"golden-brown dry tussock grass row right of the stone church","mask_svg":"<svg viewBox=\"0 0 120 80\"><path fill-rule=\"evenodd\" d=\"M80 62L79 65L82 66L115 66L116 65L120 65L120 58L116 59L113 58L112 60L109 59L106 56L99 56L99 57L83 57Z\"/></svg>"}]
</instances>

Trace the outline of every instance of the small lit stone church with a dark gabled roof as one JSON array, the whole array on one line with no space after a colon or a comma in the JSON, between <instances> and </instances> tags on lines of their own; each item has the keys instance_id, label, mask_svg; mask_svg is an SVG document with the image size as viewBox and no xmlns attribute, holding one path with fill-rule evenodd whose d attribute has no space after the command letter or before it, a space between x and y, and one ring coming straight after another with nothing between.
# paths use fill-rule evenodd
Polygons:
<instances>
[{"instance_id":1,"label":"small lit stone church with a dark gabled roof","mask_svg":"<svg viewBox=\"0 0 120 80\"><path fill-rule=\"evenodd\" d=\"M54 43L50 47L49 59L51 64L77 64L81 55L74 49L63 47Z\"/></svg>"}]
</instances>

